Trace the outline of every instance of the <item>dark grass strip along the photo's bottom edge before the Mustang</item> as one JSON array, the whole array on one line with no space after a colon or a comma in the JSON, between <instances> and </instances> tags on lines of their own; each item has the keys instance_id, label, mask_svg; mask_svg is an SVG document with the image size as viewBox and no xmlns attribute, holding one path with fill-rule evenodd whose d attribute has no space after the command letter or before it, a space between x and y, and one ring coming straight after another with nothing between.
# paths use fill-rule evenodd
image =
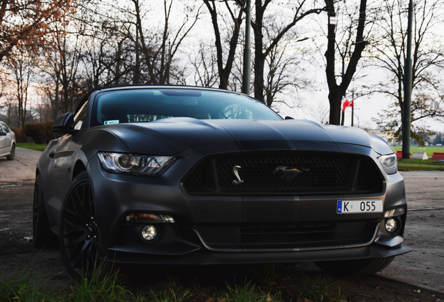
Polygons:
<instances>
[{"instance_id":1,"label":"dark grass strip along the photo's bottom edge before the Mustang","mask_svg":"<svg viewBox=\"0 0 444 302\"><path fill-rule=\"evenodd\" d=\"M285 285L285 280L277 278L274 289L254 283L253 276L244 279L241 284L219 287L217 282L207 284L206 280L180 280L177 276L166 275L156 282L149 282L142 287L133 288L119 272L111 273L105 278L93 274L89 278L78 280L71 290L48 289L45 280L36 280L27 265L22 271L10 278L0 278L0 301L17 302L305 302L305 301L346 301L341 294L339 285L332 278L314 277L299 280L302 292ZM257 272L258 273L258 272ZM181 284L184 282L185 284ZM190 283L191 282L191 283ZM198 283L196 283L198 282ZM267 280L266 282L270 282ZM279 282L279 285L277 284ZM235 282L237 283L237 282ZM46 287L46 288L45 288ZM290 299L283 298L283 295Z\"/></svg>"}]
</instances>

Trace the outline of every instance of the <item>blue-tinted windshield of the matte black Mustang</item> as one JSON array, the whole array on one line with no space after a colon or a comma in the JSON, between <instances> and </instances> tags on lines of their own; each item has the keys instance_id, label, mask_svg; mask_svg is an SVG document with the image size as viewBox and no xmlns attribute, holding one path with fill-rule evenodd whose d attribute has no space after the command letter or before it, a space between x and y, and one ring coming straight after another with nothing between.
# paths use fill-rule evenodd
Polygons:
<instances>
[{"instance_id":1,"label":"blue-tinted windshield of the matte black Mustang","mask_svg":"<svg viewBox=\"0 0 444 302\"><path fill-rule=\"evenodd\" d=\"M281 120L249 96L197 89L128 89L103 92L94 101L92 124L152 122L169 117L198 120Z\"/></svg>"}]
</instances>

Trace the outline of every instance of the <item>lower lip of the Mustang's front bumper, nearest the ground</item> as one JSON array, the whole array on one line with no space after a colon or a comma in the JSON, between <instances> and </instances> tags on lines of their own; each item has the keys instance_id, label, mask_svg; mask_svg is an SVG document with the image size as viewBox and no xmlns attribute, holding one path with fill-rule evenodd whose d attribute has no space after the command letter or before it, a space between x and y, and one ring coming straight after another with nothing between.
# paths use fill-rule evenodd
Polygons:
<instances>
[{"instance_id":1,"label":"lower lip of the Mustang's front bumper, nearest the ground","mask_svg":"<svg viewBox=\"0 0 444 302\"><path fill-rule=\"evenodd\" d=\"M193 230L182 229L182 235L193 236ZM197 236L194 236L197 238ZM180 240L163 246L121 245L108 250L107 261L123 264L267 264L306 261L385 258L406 254L411 249L402 245L388 248L378 243L362 247L336 247L327 250L286 250L217 252L193 241Z\"/></svg>"}]
</instances>

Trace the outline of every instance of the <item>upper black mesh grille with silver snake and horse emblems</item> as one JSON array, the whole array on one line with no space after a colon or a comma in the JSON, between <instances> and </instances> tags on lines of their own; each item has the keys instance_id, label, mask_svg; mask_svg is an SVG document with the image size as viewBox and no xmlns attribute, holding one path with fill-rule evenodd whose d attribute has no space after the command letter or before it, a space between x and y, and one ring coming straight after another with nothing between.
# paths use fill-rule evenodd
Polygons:
<instances>
[{"instance_id":1,"label":"upper black mesh grille with silver snake and horse emblems","mask_svg":"<svg viewBox=\"0 0 444 302\"><path fill-rule=\"evenodd\" d=\"M233 168L242 183L237 184ZM359 194L383 189L371 159L329 152L243 152L207 158L184 178L188 194Z\"/></svg>"}]
</instances>

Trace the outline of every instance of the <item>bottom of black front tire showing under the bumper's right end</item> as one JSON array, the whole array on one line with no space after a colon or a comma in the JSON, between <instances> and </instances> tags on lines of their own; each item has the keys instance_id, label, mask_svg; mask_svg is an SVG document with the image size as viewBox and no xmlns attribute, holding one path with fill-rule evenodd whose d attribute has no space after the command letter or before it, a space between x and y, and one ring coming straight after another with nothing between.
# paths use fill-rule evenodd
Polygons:
<instances>
[{"instance_id":1,"label":"bottom of black front tire showing under the bumper's right end","mask_svg":"<svg viewBox=\"0 0 444 302\"><path fill-rule=\"evenodd\" d=\"M359 277L382 271L392 263L393 259L394 256L387 258L319 261L315 262L315 264L326 273L331 273L338 277Z\"/></svg>"}]
</instances>

